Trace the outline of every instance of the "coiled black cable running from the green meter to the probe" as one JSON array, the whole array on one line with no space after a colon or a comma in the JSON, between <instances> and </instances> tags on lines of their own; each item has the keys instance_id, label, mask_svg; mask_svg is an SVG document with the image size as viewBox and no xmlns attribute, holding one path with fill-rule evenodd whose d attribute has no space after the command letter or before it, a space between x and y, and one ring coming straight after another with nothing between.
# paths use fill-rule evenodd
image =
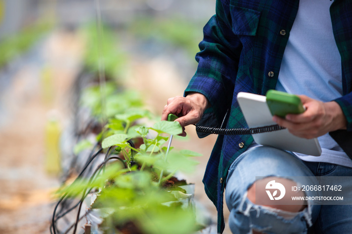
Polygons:
<instances>
[{"instance_id":1,"label":"coiled black cable running from the green meter to the probe","mask_svg":"<svg viewBox=\"0 0 352 234\"><path fill-rule=\"evenodd\" d=\"M219 129L219 128L209 128L204 126L196 126L196 131L199 133L210 133L217 135L252 135L258 133L268 133L279 131L285 129L279 125L270 125L258 128L249 128L249 129Z\"/></svg>"}]
</instances>

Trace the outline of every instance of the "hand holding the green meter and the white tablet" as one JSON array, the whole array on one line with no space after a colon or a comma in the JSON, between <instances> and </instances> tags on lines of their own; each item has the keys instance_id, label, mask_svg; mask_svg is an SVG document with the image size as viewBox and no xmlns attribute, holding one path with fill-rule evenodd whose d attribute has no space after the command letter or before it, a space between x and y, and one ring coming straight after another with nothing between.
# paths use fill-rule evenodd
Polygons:
<instances>
[{"instance_id":1,"label":"hand holding the green meter and the white tablet","mask_svg":"<svg viewBox=\"0 0 352 234\"><path fill-rule=\"evenodd\" d=\"M328 132L346 129L346 118L335 101L322 102L299 95L306 110L301 114L287 114L285 119L274 116L273 120L297 137L312 139Z\"/></svg>"}]
</instances>

